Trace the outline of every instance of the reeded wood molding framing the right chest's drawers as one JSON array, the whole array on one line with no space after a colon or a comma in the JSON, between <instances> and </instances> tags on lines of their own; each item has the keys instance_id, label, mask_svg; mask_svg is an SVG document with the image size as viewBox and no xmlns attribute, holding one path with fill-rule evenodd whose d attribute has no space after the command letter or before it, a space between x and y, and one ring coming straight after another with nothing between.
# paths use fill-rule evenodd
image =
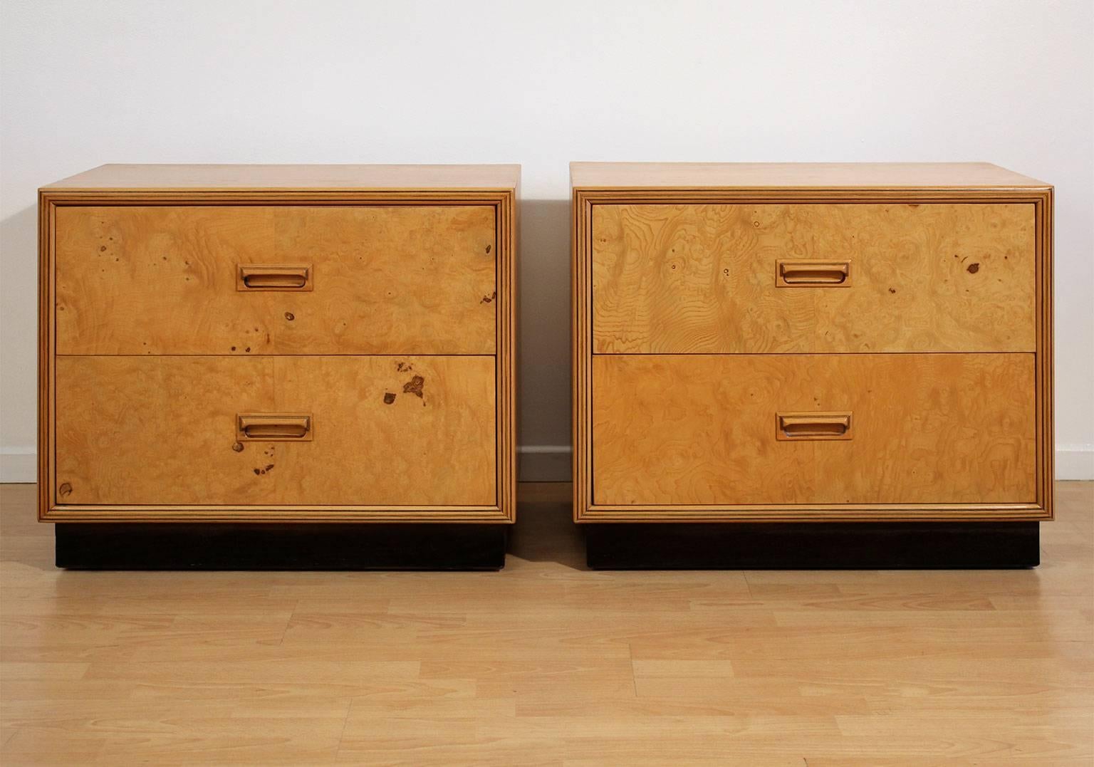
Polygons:
<instances>
[{"instance_id":1,"label":"reeded wood molding framing the right chest's drawers","mask_svg":"<svg viewBox=\"0 0 1094 767\"><path fill-rule=\"evenodd\" d=\"M571 165L571 179L583 177ZM592 164L590 164L592 165ZM994 167L994 166L991 166ZM586 168L587 170L587 168ZM1001 168L999 168L1001 170ZM1009 172L1006 172L1009 173ZM1017 174L1013 174L1017 175ZM753 186L688 188L676 186L571 187L571 337L573 403L573 519L575 522L810 522L810 521L1048 521L1052 514L1052 198L1054 187L1032 178L1006 186L944 185ZM572 183L572 182L571 182ZM592 206L612 204L990 204L1026 202L1037 217L1037 499L1035 504L990 505L811 505L630 507L597 505L592 495ZM654 510L651 512L651 510ZM655 516L653 515L655 513Z\"/></svg>"}]
</instances>

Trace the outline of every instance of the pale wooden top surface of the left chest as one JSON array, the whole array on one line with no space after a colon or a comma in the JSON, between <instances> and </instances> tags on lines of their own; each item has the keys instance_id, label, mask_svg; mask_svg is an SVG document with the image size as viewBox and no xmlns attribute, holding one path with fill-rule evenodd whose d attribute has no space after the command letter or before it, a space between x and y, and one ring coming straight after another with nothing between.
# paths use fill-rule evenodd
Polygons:
<instances>
[{"instance_id":1,"label":"pale wooden top surface of the left chest","mask_svg":"<svg viewBox=\"0 0 1094 767\"><path fill-rule=\"evenodd\" d=\"M520 165L100 165L43 189L515 189Z\"/></svg>"}]
</instances>

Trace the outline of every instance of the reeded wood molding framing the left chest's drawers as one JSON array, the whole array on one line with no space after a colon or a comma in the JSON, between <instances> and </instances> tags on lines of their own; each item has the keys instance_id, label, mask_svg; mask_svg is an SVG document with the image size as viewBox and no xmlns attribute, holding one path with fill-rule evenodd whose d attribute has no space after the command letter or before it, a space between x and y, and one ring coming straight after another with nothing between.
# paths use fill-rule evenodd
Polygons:
<instances>
[{"instance_id":1,"label":"reeded wood molding framing the left chest's drawers","mask_svg":"<svg viewBox=\"0 0 1094 767\"><path fill-rule=\"evenodd\" d=\"M107 167L107 166L104 166ZM154 167L154 166L148 166ZM395 167L395 166L381 166ZM403 166L398 166L403 167ZM38 190L38 519L43 522L500 522L516 514L515 286L519 166L496 166L484 187L81 188L58 183ZM449 168L445 168L447 171ZM84 175L84 174L81 174ZM512 184L508 179L512 176ZM78 179L73 176L66 182ZM499 186L494 186L499 183ZM497 221L497 503L490 507L68 507L54 502L56 487L55 355L56 211L65 205L491 205Z\"/></svg>"}]
</instances>

